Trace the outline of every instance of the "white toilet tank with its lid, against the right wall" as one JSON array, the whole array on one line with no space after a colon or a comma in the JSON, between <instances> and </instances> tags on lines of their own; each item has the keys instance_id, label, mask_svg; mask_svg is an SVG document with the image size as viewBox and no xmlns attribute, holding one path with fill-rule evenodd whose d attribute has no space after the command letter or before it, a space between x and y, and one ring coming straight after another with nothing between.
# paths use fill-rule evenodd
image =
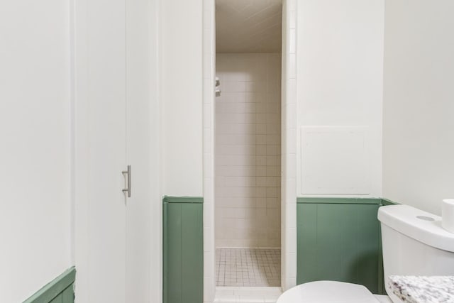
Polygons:
<instances>
[{"instance_id":1,"label":"white toilet tank with its lid, against the right wall","mask_svg":"<svg viewBox=\"0 0 454 303\"><path fill-rule=\"evenodd\" d=\"M445 231L441 217L408 205L382 206L384 285L390 275L454 275L454 233Z\"/></svg>"}]
</instances>

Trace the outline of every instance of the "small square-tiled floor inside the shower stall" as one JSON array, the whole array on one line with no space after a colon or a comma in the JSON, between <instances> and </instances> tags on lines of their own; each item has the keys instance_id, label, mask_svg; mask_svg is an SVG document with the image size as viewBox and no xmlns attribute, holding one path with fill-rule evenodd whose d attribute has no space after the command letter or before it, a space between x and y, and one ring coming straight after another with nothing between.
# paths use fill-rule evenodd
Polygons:
<instances>
[{"instance_id":1,"label":"small square-tiled floor inside the shower stall","mask_svg":"<svg viewBox=\"0 0 454 303\"><path fill-rule=\"evenodd\" d=\"M268 248L216 249L216 285L280 286L281 250Z\"/></svg>"}]
</instances>

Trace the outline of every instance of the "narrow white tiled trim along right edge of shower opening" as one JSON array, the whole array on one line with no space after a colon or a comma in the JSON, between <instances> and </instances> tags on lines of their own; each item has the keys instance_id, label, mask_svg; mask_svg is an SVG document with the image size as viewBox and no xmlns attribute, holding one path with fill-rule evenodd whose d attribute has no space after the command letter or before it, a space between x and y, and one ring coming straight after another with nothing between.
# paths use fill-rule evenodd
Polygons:
<instances>
[{"instance_id":1,"label":"narrow white tiled trim along right edge of shower opening","mask_svg":"<svg viewBox=\"0 0 454 303\"><path fill-rule=\"evenodd\" d=\"M281 285L297 285L297 0L282 7Z\"/></svg>"}]
</instances>

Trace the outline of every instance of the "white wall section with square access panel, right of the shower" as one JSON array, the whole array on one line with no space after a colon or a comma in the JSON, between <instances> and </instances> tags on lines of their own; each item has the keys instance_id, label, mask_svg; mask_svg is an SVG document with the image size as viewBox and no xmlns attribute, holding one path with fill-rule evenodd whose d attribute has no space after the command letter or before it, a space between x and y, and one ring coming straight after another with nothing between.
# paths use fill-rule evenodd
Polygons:
<instances>
[{"instance_id":1,"label":"white wall section with square access panel, right of the shower","mask_svg":"<svg viewBox=\"0 0 454 303\"><path fill-rule=\"evenodd\" d=\"M297 194L381 197L384 1L297 10Z\"/></svg>"}]
</instances>

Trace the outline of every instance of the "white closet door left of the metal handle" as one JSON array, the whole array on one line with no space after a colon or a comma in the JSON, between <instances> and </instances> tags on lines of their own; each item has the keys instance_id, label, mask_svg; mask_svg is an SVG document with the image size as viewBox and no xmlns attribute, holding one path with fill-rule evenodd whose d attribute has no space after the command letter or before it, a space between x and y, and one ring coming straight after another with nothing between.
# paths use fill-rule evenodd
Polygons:
<instances>
[{"instance_id":1,"label":"white closet door left of the metal handle","mask_svg":"<svg viewBox=\"0 0 454 303\"><path fill-rule=\"evenodd\" d=\"M125 0L76 5L76 300L124 303Z\"/></svg>"}]
</instances>

